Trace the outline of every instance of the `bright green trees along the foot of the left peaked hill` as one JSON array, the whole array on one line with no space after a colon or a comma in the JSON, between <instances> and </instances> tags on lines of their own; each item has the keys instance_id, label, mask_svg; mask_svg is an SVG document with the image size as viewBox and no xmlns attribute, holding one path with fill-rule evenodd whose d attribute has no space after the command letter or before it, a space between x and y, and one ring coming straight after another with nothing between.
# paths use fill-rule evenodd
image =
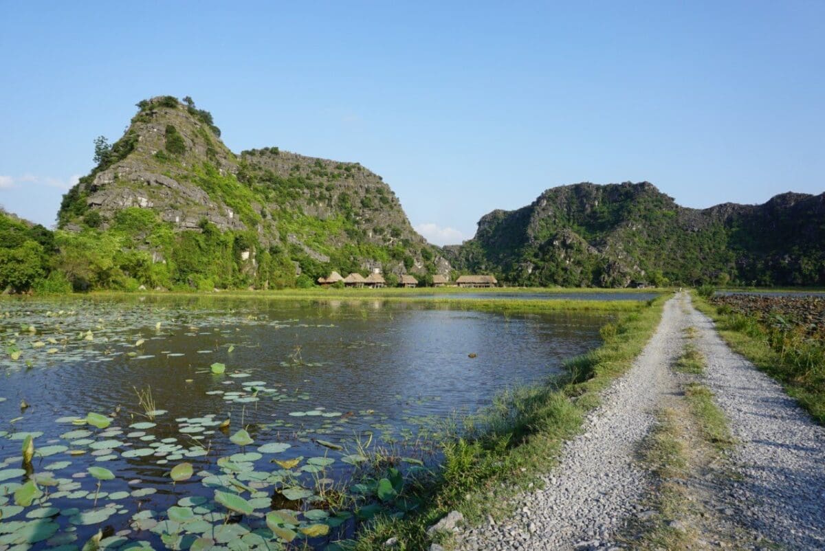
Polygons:
<instances>
[{"instance_id":1,"label":"bright green trees along the foot of the left peaked hill","mask_svg":"<svg viewBox=\"0 0 825 551\"><path fill-rule=\"evenodd\" d=\"M152 210L130 208L106 230L51 232L0 213L0 287L15 292L295 284L295 265L281 252L249 232L221 232L206 221L200 232L176 233Z\"/></svg>"}]
</instances>

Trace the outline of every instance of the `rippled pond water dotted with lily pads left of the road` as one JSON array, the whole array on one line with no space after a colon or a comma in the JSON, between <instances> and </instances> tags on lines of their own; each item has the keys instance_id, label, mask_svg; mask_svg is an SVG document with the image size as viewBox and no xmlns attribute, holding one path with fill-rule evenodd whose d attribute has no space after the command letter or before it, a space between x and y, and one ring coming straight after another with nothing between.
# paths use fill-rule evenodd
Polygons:
<instances>
[{"instance_id":1,"label":"rippled pond water dotted with lily pads left of the road","mask_svg":"<svg viewBox=\"0 0 825 551\"><path fill-rule=\"evenodd\" d=\"M356 487L365 494L357 504L368 506L362 516L373 502L399 506L370 494L375 480L358 478L356 441L395 445L410 457L398 467L421 469L418 460L435 459L427 445L413 445L419 436L508 386L558 371L599 345L605 322L595 314L214 298L7 300L0 308L0 548L36 549L80 548L99 528L111 549L133 541L184 549L197 538L272 549L264 515L284 508L302 512L294 513L299 525L281 527L308 531L323 549L356 524L346 511L330 516L324 487L351 477L364 483ZM224 374L212 373L215 363ZM151 389L153 418L136 389ZM85 424L89 412L112 415L111 425ZM230 440L243 428L252 444ZM40 450L31 468L21 465L26 434ZM195 474L173 487L168 473L184 462ZM115 475L101 482L97 504L87 473L95 466ZM17 506L14 493L31 477L48 494ZM237 492L254 512L224 525L216 491Z\"/></svg>"}]
</instances>

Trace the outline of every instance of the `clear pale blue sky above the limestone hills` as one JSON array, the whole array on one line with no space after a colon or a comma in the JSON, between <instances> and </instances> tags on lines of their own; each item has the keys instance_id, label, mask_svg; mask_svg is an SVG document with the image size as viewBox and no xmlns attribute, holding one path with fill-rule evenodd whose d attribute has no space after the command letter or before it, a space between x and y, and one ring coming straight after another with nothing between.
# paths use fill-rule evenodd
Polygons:
<instances>
[{"instance_id":1,"label":"clear pale blue sky above the limestone hills","mask_svg":"<svg viewBox=\"0 0 825 551\"><path fill-rule=\"evenodd\" d=\"M384 177L434 243L552 186L825 191L825 2L0 0L0 204L54 224L134 104Z\"/></svg>"}]
</instances>

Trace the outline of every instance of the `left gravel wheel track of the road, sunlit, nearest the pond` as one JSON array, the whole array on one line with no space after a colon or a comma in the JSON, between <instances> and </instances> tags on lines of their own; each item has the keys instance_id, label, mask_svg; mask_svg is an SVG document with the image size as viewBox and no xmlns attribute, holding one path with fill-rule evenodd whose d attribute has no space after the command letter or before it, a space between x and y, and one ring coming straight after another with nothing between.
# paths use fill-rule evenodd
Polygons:
<instances>
[{"instance_id":1,"label":"left gravel wheel track of the road, sunlit, nearest the pond","mask_svg":"<svg viewBox=\"0 0 825 551\"><path fill-rule=\"evenodd\" d=\"M467 530L457 547L610 549L648 487L634 453L653 426L660 398L674 388L668 365L681 354L685 323L678 297L668 300L657 331L628 373L605 391L584 432L564 446L544 489L518 497L512 520Z\"/></svg>"}]
</instances>

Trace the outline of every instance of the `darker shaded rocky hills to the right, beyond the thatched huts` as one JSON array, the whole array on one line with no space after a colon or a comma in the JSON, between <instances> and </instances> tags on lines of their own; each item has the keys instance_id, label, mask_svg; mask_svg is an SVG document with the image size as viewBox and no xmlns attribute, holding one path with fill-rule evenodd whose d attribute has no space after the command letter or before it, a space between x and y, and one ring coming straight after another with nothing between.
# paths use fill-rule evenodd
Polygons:
<instances>
[{"instance_id":1,"label":"darker shaded rocky hills to the right, beyond the thatched huts","mask_svg":"<svg viewBox=\"0 0 825 551\"><path fill-rule=\"evenodd\" d=\"M786 193L695 210L649 182L582 183L486 214L473 239L445 251L455 266L523 285L823 285L823 204L825 194Z\"/></svg>"}]
</instances>

